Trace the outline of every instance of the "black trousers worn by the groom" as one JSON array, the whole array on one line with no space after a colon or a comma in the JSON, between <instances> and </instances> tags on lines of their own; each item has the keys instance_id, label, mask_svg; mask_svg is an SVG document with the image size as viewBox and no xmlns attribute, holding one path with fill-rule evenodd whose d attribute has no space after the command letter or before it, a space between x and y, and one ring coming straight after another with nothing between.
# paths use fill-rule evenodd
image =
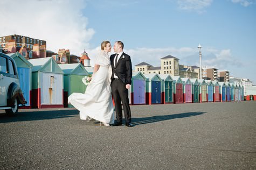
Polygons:
<instances>
[{"instance_id":1,"label":"black trousers worn by the groom","mask_svg":"<svg viewBox=\"0 0 256 170\"><path fill-rule=\"evenodd\" d=\"M132 117L130 114L128 89L126 88L126 84L124 84L119 79L117 80L113 79L111 82L111 89L112 89L112 96L115 102L116 122L121 123L123 119L122 105L121 105L121 101L122 101L126 123L130 123Z\"/></svg>"}]
</instances>

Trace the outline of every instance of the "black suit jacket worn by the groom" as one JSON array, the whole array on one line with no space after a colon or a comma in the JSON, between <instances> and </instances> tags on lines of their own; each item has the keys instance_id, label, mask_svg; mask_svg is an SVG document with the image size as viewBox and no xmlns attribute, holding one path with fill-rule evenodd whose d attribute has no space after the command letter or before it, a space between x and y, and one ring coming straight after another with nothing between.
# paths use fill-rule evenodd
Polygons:
<instances>
[{"instance_id":1,"label":"black suit jacket worn by the groom","mask_svg":"<svg viewBox=\"0 0 256 170\"><path fill-rule=\"evenodd\" d=\"M112 67L112 79L114 74L124 83L124 84L132 84L132 61L130 60L130 56L126 53L123 53L120 56L120 59L116 63L116 67L114 66L114 58L116 54L110 55L111 67Z\"/></svg>"}]
</instances>

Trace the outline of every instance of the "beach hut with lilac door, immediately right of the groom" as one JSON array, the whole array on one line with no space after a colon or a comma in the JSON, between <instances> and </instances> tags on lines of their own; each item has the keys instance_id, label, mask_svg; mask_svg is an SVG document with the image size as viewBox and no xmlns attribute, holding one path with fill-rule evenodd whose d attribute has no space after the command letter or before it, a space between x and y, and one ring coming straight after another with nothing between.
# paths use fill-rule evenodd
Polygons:
<instances>
[{"instance_id":1,"label":"beach hut with lilac door, immediately right of the groom","mask_svg":"<svg viewBox=\"0 0 256 170\"><path fill-rule=\"evenodd\" d=\"M130 102L134 104L146 104L146 80L141 72L133 72Z\"/></svg>"}]
</instances>

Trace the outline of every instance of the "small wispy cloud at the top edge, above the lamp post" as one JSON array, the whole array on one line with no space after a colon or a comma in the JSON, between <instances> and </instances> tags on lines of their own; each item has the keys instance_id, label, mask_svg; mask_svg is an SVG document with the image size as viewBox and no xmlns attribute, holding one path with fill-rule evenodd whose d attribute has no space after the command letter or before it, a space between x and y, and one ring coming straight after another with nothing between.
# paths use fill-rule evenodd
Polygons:
<instances>
[{"instance_id":1,"label":"small wispy cloud at the top edge, above the lamp post","mask_svg":"<svg viewBox=\"0 0 256 170\"><path fill-rule=\"evenodd\" d=\"M183 10L197 10L204 12L204 8L210 6L213 0L178 0L178 6Z\"/></svg>"}]
</instances>

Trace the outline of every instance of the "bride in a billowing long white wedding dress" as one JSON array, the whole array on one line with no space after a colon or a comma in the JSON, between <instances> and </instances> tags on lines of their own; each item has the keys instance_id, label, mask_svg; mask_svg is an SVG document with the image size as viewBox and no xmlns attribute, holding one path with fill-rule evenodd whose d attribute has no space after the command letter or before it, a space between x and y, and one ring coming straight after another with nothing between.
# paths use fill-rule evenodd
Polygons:
<instances>
[{"instance_id":1,"label":"bride in a billowing long white wedding dress","mask_svg":"<svg viewBox=\"0 0 256 170\"><path fill-rule=\"evenodd\" d=\"M110 51L110 42L103 41L101 51L96 55L92 79L85 94L73 93L68 97L68 103L80 111L80 119L91 120L93 118L105 126L114 123L114 107L110 88L112 69L108 56Z\"/></svg>"}]
</instances>

